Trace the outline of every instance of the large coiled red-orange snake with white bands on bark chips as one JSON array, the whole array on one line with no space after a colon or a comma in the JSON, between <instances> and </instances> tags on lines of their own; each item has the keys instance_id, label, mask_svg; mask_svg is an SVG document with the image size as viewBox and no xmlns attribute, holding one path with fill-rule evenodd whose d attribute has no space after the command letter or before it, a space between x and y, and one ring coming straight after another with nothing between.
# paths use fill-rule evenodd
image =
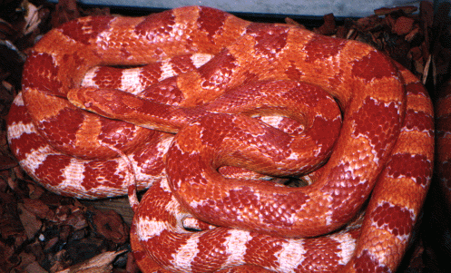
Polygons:
<instances>
[{"instance_id":1,"label":"large coiled red-orange snake with white bands on bark chips","mask_svg":"<svg viewBox=\"0 0 451 273\"><path fill-rule=\"evenodd\" d=\"M135 83L130 70L96 68L147 63ZM144 272L393 272L434 156L429 97L384 54L198 6L46 34L25 63L8 140L61 194L124 194L130 166L139 189L152 184L132 226ZM218 171L299 176L321 165L295 189ZM192 217L201 231L183 227Z\"/></svg>"}]
</instances>

